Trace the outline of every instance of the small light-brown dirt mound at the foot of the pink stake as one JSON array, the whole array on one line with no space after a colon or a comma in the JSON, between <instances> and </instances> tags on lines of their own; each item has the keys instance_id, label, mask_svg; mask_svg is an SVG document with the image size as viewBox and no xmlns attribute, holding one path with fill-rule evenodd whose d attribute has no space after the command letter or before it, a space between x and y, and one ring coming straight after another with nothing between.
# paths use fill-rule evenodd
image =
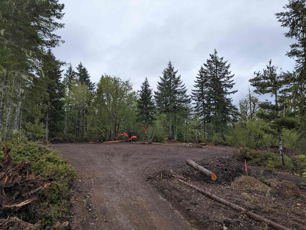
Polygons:
<instances>
[{"instance_id":1,"label":"small light-brown dirt mound at the foot of the pink stake","mask_svg":"<svg viewBox=\"0 0 306 230\"><path fill-rule=\"evenodd\" d=\"M237 177L232 182L232 186L235 188L247 188L251 190L255 189L258 191L267 191L267 186L254 177Z\"/></svg>"}]
</instances>

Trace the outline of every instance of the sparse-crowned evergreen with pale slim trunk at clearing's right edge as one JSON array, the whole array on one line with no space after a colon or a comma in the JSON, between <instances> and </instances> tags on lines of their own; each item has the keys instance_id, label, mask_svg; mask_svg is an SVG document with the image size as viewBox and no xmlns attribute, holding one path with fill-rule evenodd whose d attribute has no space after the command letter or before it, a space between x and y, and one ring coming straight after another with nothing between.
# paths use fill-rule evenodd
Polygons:
<instances>
[{"instance_id":1,"label":"sparse-crowned evergreen with pale slim trunk at clearing's right edge","mask_svg":"<svg viewBox=\"0 0 306 230\"><path fill-rule=\"evenodd\" d=\"M275 104L267 101L260 104L262 108L261 111L257 112L257 117L263 119L267 122L267 126L263 126L263 130L266 133L270 133L274 136L278 136L279 142L279 153L282 160L282 164L285 165L284 157L282 153L282 137L281 132L284 127L292 129L296 126L297 121L294 119L294 113L291 110L288 110L285 113L285 104L280 94L282 93L282 88L286 84L285 74L280 71L277 73L278 67L271 66L271 60L267 68L263 70L263 73L254 72L256 75L255 78L249 80L251 85L256 87L254 90L255 93L261 94L270 94L271 97L274 96ZM279 100L281 99L281 100ZM280 102L283 102L280 104ZM284 110L282 110L284 108ZM283 111L283 113L282 113Z\"/></svg>"}]
</instances>

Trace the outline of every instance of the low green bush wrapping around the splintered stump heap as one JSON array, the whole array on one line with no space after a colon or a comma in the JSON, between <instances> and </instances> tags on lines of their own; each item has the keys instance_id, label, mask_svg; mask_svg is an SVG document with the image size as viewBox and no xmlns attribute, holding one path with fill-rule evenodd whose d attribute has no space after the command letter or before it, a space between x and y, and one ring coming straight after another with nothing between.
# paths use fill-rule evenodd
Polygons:
<instances>
[{"instance_id":1,"label":"low green bush wrapping around the splintered stump heap","mask_svg":"<svg viewBox=\"0 0 306 230\"><path fill-rule=\"evenodd\" d=\"M20 163L23 159L31 161L32 173L58 184L49 186L39 192L44 200L38 203L36 215L42 225L49 225L54 218L63 220L62 217L69 212L69 204L65 198L68 189L76 178L76 170L63 160L58 152L52 151L43 145L42 142L27 141L27 137L20 137L18 140L11 140L0 143L2 146L8 144L11 147L11 157L14 163ZM0 152L0 159L3 160L4 153ZM25 215L27 218L27 215ZM28 217L29 218L29 217Z\"/></svg>"}]
</instances>

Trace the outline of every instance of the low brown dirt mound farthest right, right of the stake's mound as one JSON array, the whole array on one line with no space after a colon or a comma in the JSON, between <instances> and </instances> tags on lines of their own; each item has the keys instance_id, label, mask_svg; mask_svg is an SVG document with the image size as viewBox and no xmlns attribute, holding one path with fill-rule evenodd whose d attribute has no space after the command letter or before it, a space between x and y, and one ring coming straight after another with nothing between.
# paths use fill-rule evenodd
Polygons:
<instances>
[{"instance_id":1,"label":"low brown dirt mound farthest right, right of the stake's mound","mask_svg":"<svg viewBox=\"0 0 306 230\"><path fill-rule=\"evenodd\" d=\"M278 181L275 179L268 180L270 186L272 187L272 191L284 198L297 198L302 196L303 192L300 190L297 185L293 184L289 181Z\"/></svg>"}]
</instances>

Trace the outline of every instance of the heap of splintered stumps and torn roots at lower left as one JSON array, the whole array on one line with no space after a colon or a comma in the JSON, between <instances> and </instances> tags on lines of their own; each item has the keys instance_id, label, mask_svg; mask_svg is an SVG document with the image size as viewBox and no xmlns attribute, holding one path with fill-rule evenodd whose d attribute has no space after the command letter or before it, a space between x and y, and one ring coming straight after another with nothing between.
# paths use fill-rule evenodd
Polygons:
<instances>
[{"instance_id":1,"label":"heap of splintered stumps and torn roots at lower left","mask_svg":"<svg viewBox=\"0 0 306 230\"><path fill-rule=\"evenodd\" d=\"M53 183L35 177L31 172L30 161L23 160L15 164L10 150L4 145L4 159L0 163L0 229L40 229L42 226L35 215L37 192ZM31 222L34 224L19 219L21 213L32 216Z\"/></svg>"}]
</instances>

